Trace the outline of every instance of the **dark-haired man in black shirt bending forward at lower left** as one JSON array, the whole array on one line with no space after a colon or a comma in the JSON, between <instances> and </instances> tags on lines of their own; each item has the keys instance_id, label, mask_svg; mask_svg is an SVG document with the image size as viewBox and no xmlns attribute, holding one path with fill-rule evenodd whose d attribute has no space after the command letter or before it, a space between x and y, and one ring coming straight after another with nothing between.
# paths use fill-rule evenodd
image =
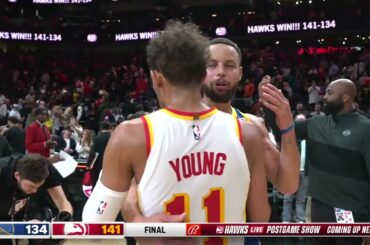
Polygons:
<instances>
[{"instance_id":1,"label":"dark-haired man in black shirt bending forward at lower left","mask_svg":"<svg viewBox=\"0 0 370 245\"><path fill-rule=\"evenodd\" d=\"M46 158L38 154L0 158L0 221L40 219L29 207L30 198L40 188L47 189L59 212L72 213L61 177Z\"/></svg>"}]
</instances>

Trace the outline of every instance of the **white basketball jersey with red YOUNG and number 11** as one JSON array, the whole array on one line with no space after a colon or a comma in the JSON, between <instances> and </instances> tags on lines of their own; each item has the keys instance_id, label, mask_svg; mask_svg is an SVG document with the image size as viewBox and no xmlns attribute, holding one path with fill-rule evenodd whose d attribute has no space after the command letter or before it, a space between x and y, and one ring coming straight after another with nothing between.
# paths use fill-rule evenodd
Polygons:
<instances>
[{"instance_id":1,"label":"white basketball jersey with red YOUNG and number 11","mask_svg":"<svg viewBox=\"0 0 370 245\"><path fill-rule=\"evenodd\" d=\"M245 222L249 167L238 120L216 109L162 109L142 117L149 156L138 185L144 216Z\"/></svg>"}]
</instances>

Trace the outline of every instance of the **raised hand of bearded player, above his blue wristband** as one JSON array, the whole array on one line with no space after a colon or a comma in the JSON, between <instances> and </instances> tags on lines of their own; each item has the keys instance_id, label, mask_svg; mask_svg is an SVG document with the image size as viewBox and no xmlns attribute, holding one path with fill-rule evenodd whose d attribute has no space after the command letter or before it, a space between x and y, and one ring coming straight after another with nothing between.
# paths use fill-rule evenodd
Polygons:
<instances>
[{"instance_id":1,"label":"raised hand of bearded player, above his blue wristband","mask_svg":"<svg viewBox=\"0 0 370 245\"><path fill-rule=\"evenodd\" d=\"M262 82L261 82L262 83ZM276 115L276 124L279 129L286 129L292 125L293 116L289 101L283 93L271 83L261 85L261 102Z\"/></svg>"}]
</instances>

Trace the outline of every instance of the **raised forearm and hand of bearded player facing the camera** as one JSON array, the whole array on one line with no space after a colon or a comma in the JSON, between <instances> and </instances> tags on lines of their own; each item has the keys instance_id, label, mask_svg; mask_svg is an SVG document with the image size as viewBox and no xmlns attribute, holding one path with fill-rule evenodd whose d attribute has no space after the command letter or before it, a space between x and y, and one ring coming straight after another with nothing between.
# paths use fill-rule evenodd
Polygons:
<instances>
[{"instance_id":1,"label":"raised forearm and hand of bearded player facing the camera","mask_svg":"<svg viewBox=\"0 0 370 245\"><path fill-rule=\"evenodd\" d=\"M266 76L259 86L260 98L264 106L276 115L276 123L280 130L294 126L289 101L283 93L270 84L270 77ZM299 150L295 131L290 130L282 134L280 155L271 142L267 143L268 133L266 128L259 123L261 131L265 131L266 143L266 174L278 191L291 194L296 192L299 182ZM267 137L267 138L266 138ZM267 139L267 140L266 140Z\"/></svg>"}]
</instances>

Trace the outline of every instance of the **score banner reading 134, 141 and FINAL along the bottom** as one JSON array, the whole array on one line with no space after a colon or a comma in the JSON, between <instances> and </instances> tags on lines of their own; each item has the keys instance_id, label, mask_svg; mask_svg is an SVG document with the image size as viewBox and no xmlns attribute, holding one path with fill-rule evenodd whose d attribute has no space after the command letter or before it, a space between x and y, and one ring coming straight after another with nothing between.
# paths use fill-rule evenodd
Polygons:
<instances>
[{"instance_id":1,"label":"score banner reading 134, 141 and FINAL along the bottom","mask_svg":"<svg viewBox=\"0 0 370 245\"><path fill-rule=\"evenodd\" d=\"M1 239L133 237L363 237L370 223L82 223L0 222ZM0 241L1 244L1 241Z\"/></svg>"}]
</instances>

